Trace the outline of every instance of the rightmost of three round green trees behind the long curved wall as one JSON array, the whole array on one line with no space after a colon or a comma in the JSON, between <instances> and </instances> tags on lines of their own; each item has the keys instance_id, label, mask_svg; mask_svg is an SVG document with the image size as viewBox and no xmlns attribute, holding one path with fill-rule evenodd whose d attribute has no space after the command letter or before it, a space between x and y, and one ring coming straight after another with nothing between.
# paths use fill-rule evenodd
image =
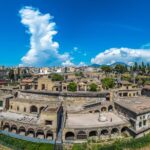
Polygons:
<instances>
[{"instance_id":1,"label":"rightmost of three round green trees behind the long curved wall","mask_svg":"<svg viewBox=\"0 0 150 150\"><path fill-rule=\"evenodd\" d=\"M102 79L102 86L105 89L113 88L115 86L115 82L112 78L104 78Z\"/></svg>"}]
</instances>

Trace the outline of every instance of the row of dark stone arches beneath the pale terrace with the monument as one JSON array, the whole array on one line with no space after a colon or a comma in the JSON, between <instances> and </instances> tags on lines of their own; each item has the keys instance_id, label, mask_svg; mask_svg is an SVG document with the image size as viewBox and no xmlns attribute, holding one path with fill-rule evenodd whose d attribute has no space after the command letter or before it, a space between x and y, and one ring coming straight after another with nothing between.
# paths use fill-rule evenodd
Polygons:
<instances>
[{"instance_id":1,"label":"row of dark stone arches beneath the pale terrace with the monument","mask_svg":"<svg viewBox=\"0 0 150 150\"><path fill-rule=\"evenodd\" d=\"M75 140L75 139L87 139L90 137L107 137L107 136L117 136L120 134L125 134L128 133L128 128L127 127L123 127L121 130L119 130L118 128L112 128L112 130L109 132L108 129L103 129L100 132L93 130L90 131L88 134L85 131L79 131L77 132L77 134L75 135L74 132L68 131L65 134L65 140Z\"/></svg>"}]
</instances>

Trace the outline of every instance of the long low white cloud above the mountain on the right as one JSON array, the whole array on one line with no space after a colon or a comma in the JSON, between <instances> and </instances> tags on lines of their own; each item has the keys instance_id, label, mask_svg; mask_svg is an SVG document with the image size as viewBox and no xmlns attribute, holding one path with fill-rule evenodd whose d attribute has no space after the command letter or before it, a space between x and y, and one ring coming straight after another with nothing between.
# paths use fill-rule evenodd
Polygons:
<instances>
[{"instance_id":1,"label":"long low white cloud above the mountain on the right","mask_svg":"<svg viewBox=\"0 0 150 150\"><path fill-rule=\"evenodd\" d=\"M110 48L91 59L92 64L113 64L123 62L131 65L133 62L150 62L150 49Z\"/></svg>"}]
</instances>

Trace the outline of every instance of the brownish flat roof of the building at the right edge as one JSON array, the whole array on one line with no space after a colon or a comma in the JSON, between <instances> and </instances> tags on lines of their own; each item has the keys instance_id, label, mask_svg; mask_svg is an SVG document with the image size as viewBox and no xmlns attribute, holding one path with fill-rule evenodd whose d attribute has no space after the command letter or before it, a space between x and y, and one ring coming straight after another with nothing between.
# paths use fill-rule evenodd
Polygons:
<instances>
[{"instance_id":1,"label":"brownish flat roof of the building at the right edge","mask_svg":"<svg viewBox=\"0 0 150 150\"><path fill-rule=\"evenodd\" d=\"M119 98L116 104L130 110L135 114L150 112L150 98L145 96Z\"/></svg>"}]
</instances>

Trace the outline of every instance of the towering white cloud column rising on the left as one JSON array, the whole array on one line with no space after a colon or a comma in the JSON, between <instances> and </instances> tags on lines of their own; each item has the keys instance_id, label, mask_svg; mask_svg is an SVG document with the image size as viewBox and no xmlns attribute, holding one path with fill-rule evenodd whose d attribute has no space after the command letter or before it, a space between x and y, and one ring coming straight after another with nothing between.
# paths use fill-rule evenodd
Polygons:
<instances>
[{"instance_id":1,"label":"towering white cloud column rising on the left","mask_svg":"<svg viewBox=\"0 0 150 150\"><path fill-rule=\"evenodd\" d=\"M30 49L22 57L23 66L60 65L70 61L67 53L60 54L59 44L53 40L57 34L55 22L50 14L42 14L32 7L24 7L19 11L21 23L27 28L30 37Z\"/></svg>"}]
</instances>

